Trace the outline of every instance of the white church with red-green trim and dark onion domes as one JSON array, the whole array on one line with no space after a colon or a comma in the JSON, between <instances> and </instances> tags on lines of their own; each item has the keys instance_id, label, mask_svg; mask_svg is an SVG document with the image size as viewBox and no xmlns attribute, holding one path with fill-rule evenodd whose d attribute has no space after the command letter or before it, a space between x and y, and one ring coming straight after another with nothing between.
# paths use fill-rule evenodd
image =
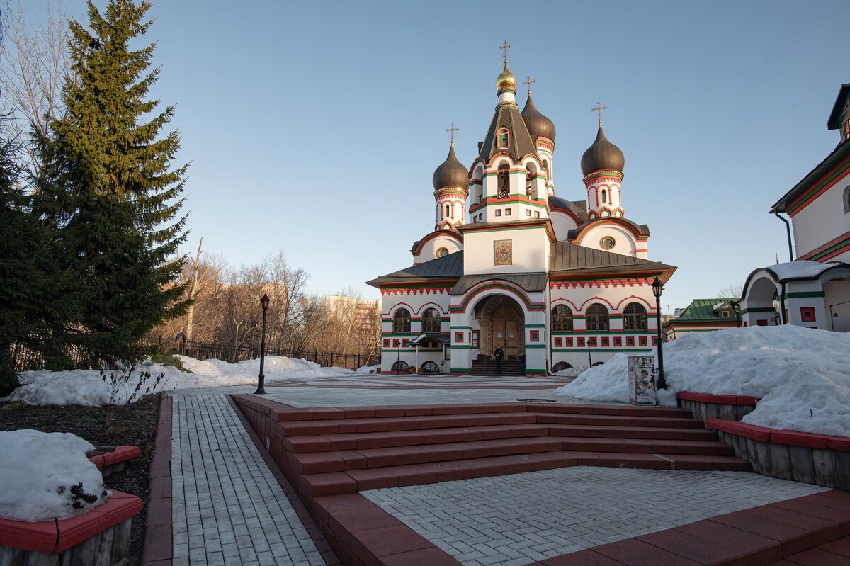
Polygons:
<instances>
[{"instance_id":1,"label":"white church with red-green trim and dark onion domes","mask_svg":"<svg viewBox=\"0 0 850 566\"><path fill-rule=\"evenodd\" d=\"M368 281L382 296L383 372L488 374L501 346L506 372L542 376L655 346L651 283L676 268L649 260L649 228L626 217L623 152L600 114L581 156L586 193L557 196L555 126L530 88L519 110L509 47L478 156L463 165L452 138L433 173L433 231L410 267Z\"/></svg>"}]
</instances>

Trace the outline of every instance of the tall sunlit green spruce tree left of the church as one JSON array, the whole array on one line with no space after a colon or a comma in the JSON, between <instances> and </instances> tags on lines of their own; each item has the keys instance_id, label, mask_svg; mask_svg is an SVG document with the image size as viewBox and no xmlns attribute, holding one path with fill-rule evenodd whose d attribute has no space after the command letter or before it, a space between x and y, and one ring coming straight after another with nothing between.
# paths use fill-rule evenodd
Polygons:
<instances>
[{"instance_id":1,"label":"tall sunlit green spruce tree left of the church","mask_svg":"<svg viewBox=\"0 0 850 566\"><path fill-rule=\"evenodd\" d=\"M172 168L178 133L160 137L173 106L155 114L158 101L146 99L154 45L130 45L150 27L149 8L111 0L101 14L89 1L89 27L70 22L67 112L38 139L37 210L70 246L82 297L69 342L106 360L138 359L139 338L187 307L174 258L188 166Z\"/></svg>"}]
</instances>

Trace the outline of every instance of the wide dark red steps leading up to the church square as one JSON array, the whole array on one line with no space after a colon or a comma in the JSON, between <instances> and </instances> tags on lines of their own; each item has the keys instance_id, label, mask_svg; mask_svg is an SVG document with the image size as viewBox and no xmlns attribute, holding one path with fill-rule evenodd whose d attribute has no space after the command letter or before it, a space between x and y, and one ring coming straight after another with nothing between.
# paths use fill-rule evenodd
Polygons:
<instances>
[{"instance_id":1,"label":"wide dark red steps leading up to the church square","mask_svg":"<svg viewBox=\"0 0 850 566\"><path fill-rule=\"evenodd\" d=\"M507 403L271 413L275 459L309 497L568 466L750 470L681 409Z\"/></svg>"}]
</instances>

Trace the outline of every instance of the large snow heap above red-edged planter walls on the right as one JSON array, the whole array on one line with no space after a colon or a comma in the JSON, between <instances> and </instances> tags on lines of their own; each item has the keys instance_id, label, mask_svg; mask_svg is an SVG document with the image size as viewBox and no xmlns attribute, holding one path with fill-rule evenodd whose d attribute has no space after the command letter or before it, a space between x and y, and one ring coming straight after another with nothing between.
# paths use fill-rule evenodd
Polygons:
<instances>
[{"instance_id":1,"label":"large snow heap above red-edged planter walls on the right","mask_svg":"<svg viewBox=\"0 0 850 566\"><path fill-rule=\"evenodd\" d=\"M761 399L743 422L850 437L850 334L802 326L691 332L664 345L667 390ZM655 355L655 350L652 354ZM628 403L626 355L616 354L556 393Z\"/></svg>"}]
</instances>

